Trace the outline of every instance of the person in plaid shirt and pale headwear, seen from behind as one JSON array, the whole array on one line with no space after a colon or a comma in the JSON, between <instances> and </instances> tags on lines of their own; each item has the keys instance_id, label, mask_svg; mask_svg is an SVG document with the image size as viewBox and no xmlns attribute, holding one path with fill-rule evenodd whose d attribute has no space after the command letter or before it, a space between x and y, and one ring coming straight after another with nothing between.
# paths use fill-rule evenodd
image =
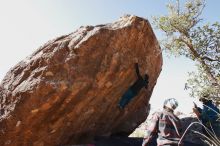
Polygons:
<instances>
[{"instance_id":1,"label":"person in plaid shirt and pale headwear, seen from behind","mask_svg":"<svg viewBox=\"0 0 220 146\"><path fill-rule=\"evenodd\" d=\"M182 129L180 119L173 113L177 106L178 102L174 98L164 101L163 110L154 113L152 116L142 146L178 145Z\"/></svg>"}]
</instances>

